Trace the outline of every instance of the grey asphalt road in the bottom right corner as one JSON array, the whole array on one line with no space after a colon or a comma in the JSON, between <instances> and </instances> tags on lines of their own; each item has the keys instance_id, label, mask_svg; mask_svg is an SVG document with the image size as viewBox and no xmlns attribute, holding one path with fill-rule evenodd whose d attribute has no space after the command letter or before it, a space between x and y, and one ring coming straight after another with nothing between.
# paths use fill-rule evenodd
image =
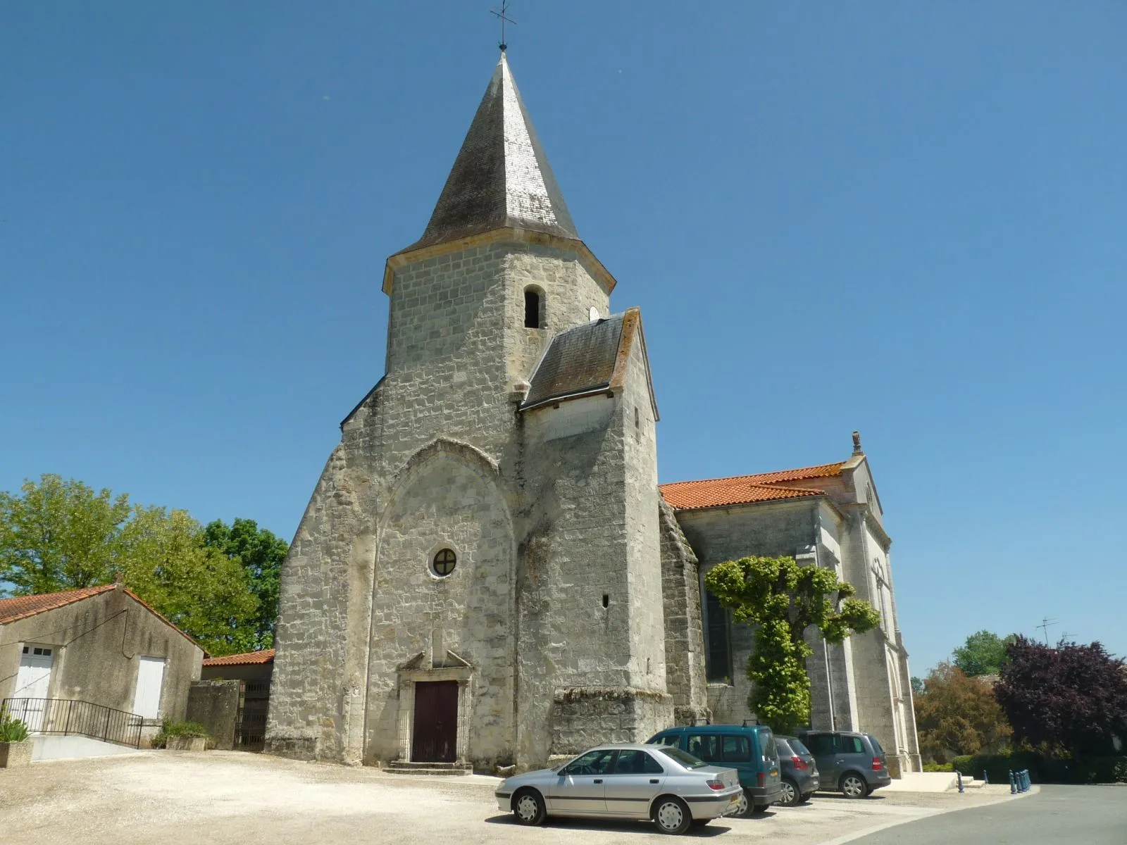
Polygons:
<instances>
[{"instance_id":1,"label":"grey asphalt road in the bottom right corner","mask_svg":"<svg viewBox=\"0 0 1127 845\"><path fill-rule=\"evenodd\" d=\"M912 821L851 845L1127 845L1127 786L1041 786L1015 801Z\"/></svg>"}]
</instances>

